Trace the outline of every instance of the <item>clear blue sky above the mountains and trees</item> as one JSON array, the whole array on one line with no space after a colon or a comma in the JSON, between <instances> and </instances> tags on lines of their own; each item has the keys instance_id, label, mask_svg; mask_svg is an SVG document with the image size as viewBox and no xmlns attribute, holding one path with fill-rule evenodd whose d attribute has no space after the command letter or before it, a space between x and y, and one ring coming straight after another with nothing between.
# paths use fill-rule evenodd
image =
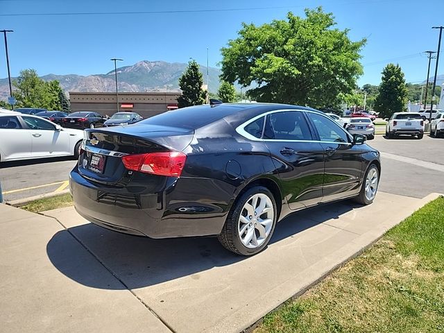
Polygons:
<instances>
[{"instance_id":1,"label":"clear blue sky above the mountains and trees","mask_svg":"<svg viewBox=\"0 0 444 333\"><path fill-rule=\"evenodd\" d=\"M15 31L8 35L12 76L26 68L36 69L40 75L105 73L112 70L109 59L114 57L124 59L122 66L139 60L187 62L190 57L205 64L207 47L210 66L217 67L219 50L237 37L241 22L262 24L284 19L288 11L303 15L304 8L316 6L333 12L339 28L350 28L352 40L368 38L361 53L364 76L360 85L379 83L388 62L401 65L407 82L425 80L427 58L420 53L437 48L438 31L431 27L444 25L443 0L0 0L0 30ZM267 9L227 10L260 7ZM432 15L429 8L433 8ZM171 10L224 11L168 12ZM141 11L164 12L17 16ZM441 59L438 74L444 74L444 52ZM6 76L1 39L0 78Z\"/></svg>"}]
</instances>

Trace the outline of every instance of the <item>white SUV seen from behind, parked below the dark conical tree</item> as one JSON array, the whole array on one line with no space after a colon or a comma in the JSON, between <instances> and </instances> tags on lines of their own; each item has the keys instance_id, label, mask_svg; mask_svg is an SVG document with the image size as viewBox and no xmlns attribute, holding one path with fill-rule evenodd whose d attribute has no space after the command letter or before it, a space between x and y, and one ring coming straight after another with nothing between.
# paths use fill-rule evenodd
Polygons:
<instances>
[{"instance_id":1,"label":"white SUV seen from behind, parked below the dark conical tree","mask_svg":"<svg viewBox=\"0 0 444 333\"><path fill-rule=\"evenodd\" d=\"M418 139L422 139L424 136L424 120L418 112L395 112L386 121L386 137L388 139L402 134L416 136Z\"/></svg>"}]
</instances>

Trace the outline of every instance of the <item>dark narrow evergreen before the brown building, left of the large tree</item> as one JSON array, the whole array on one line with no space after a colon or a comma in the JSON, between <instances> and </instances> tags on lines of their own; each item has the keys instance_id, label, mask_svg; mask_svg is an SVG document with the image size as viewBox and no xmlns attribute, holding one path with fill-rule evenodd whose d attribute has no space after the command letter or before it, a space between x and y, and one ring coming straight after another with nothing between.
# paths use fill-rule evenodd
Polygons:
<instances>
[{"instance_id":1,"label":"dark narrow evergreen before the brown building, left of the large tree","mask_svg":"<svg viewBox=\"0 0 444 333\"><path fill-rule=\"evenodd\" d=\"M179 108L205 103L207 92L202 89L202 85L203 77L199 65L196 60L191 60L179 78L179 87L182 90L182 94L178 97Z\"/></svg>"}]
</instances>

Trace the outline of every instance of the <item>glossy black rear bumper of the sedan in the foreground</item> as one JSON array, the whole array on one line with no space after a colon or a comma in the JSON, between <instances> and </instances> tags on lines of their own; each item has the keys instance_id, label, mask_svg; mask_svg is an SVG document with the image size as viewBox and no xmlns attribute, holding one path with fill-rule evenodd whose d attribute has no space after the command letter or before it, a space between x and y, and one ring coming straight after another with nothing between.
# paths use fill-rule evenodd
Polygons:
<instances>
[{"instance_id":1,"label":"glossy black rear bumper of the sedan in the foreground","mask_svg":"<svg viewBox=\"0 0 444 333\"><path fill-rule=\"evenodd\" d=\"M75 168L69 183L74 207L81 216L127 234L151 238L215 235L221 232L229 210L228 196L208 200L212 189L205 190L209 186L206 180L169 178L162 191L146 194L137 188L99 185L83 178ZM191 186L194 191L202 187L205 202L187 195Z\"/></svg>"}]
</instances>

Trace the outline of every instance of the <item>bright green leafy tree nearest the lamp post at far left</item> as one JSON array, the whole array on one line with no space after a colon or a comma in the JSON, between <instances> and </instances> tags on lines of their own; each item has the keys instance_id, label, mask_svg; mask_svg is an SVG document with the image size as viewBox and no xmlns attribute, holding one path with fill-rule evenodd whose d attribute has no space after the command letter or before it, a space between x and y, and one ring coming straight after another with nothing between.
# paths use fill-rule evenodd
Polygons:
<instances>
[{"instance_id":1,"label":"bright green leafy tree nearest the lamp post at far left","mask_svg":"<svg viewBox=\"0 0 444 333\"><path fill-rule=\"evenodd\" d=\"M35 69L20 71L17 80L13 82L17 90L13 93L17 99L17 107L42 108L44 105L46 87L44 81L37 76Z\"/></svg>"}]
</instances>

